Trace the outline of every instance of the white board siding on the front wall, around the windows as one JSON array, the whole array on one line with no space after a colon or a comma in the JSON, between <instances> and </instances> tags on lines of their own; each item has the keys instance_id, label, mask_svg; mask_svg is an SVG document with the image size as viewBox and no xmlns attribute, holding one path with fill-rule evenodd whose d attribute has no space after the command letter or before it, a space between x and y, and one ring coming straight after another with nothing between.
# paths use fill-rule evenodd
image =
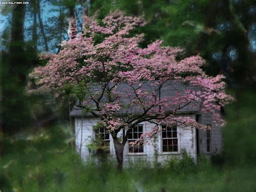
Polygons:
<instances>
[{"instance_id":1,"label":"white board siding on the front wall, around the windows","mask_svg":"<svg viewBox=\"0 0 256 192\"><path fill-rule=\"evenodd\" d=\"M195 115L186 115L195 118ZM81 149L81 158L85 161L91 159L91 153L87 148L87 145L90 144L91 138L94 137L93 126L99 122L98 118L75 118L76 126L76 146L77 152L80 152ZM154 124L149 122L140 123L143 125L143 132L149 132L154 127ZM142 154L130 154L128 150L128 142L124 146L124 164L128 165L129 163L137 162L138 160L146 160L143 162L154 162L155 160L155 150L157 151L157 162L165 163L171 158L180 158L182 156L182 150L187 151L191 157L196 161L196 129L193 127L186 127L182 129L177 126L178 132L178 152L162 152L162 139L161 134L156 135L155 139L149 140L144 144L144 152ZM118 136L121 136L122 132L118 133ZM82 145L81 145L82 137ZM81 148L80 148L81 146ZM113 146L113 138L110 135L110 158L116 160L115 157L115 148Z\"/></svg>"}]
</instances>

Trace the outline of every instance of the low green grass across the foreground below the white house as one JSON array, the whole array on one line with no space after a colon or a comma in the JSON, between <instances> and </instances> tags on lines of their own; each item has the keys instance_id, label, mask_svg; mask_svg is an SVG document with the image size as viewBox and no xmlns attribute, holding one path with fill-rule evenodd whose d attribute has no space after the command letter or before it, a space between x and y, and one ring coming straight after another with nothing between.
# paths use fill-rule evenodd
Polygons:
<instances>
[{"instance_id":1,"label":"low green grass across the foreground below the white house","mask_svg":"<svg viewBox=\"0 0 256 192\"><path fill-rule=\"evenodd\" d=\"M197 165L189 154L168 166L150 168L144 161L118 172L115 163L80 162L65 139L68 127L55 126L33 135L4 138L8 150L0 161L4 191L252 191L255 166L216 169L202 158ZM30 137L28 137L30 135ZM239 180L240 182L237 182ZM85 184L86 183L86 184Z\"/></svg>"}]
</instances>

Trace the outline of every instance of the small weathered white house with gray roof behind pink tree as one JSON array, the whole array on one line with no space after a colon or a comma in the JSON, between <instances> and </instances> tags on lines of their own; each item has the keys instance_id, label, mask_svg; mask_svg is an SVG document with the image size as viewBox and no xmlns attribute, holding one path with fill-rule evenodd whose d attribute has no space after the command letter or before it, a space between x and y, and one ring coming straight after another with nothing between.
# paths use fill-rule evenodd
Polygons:
<instances>
[{"instance_id":1,"label":"small weathered white house with gray roof behind pink tree","mask_svg":"<svg viewBox=\"0 0 256 192\"><path fill-rule=\"evenodd\" d=\"M144 89L150 89L150 85L143 85ZM126 84L120 84L116 91L123 91L124 89L129 89ZM163 87L161 96L169 97L176 95L177 91L185 91L188 87L182 86L177 82L169 82L168 85ZM190 87L193 88L193 87ZM94 90L95 91L95 90ZM124 101L129 102L129 101ZM133 108L130 113L136 113L140 108ZM94 112L98 113L98 112ZM164 162L165 160L172 157L181 157L182 150L187 151L194 160L197 160L198 155L204 154L206 157L210 155L221 152L222 149L222 130L221 127L216 126L212 123L212 118L209 114L202 113L201 110L196 110L192 105L187 105L180 109L177 116L190 116L197 122L212 127L210 130L198 130L194 127L186 127L185 129L176 124L172 127L163 128L160 126L161 132L156 134L154 139L150 140L149 143L145 142L141 146L132 146L129 144L130 141L135 141L140 138L143 132L150 132L155 124L144 121L137 126L135 126L129 133L128 140L124 146L124 163L135 162L138 158L154 161L155 152L157 152L157 161ZM81 157L84 160L88 160L91 157L90 150L88 149L88 144L90 144L91 139L95 137L93 126L100 121L98 117L95 117L93 113L86 113L82 118L82 109L75 105L71 111L71 116L75 121L76 129L76 146L80 146ZM119 132L121 135L122 130ZM108 155L113 157L115 160L115 148L113 144L112 135L109 134L104 129L99 129L98 134L103 138L103 145L108 149ZM82 142L82 143L81 143ZM79 147L77 147L79 151Z\"/></svg>"}]
</instances>

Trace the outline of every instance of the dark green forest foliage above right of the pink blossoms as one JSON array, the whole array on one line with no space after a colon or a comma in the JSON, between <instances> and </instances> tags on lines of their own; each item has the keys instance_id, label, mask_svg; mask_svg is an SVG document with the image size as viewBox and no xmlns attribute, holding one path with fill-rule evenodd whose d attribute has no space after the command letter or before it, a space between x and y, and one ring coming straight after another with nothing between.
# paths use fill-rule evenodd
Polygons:
<instances>
[{"instance_id":1,"label":"dark green forest foliage above right of the pink blossoms","mask_svg":"<svg viewBox=\"0 0 256 192\"><path fill-rule=\"evenodd\" d=\"M139 29L145 35L142 47L162 39L165 46L185 48L187 55L201 54L208 62L205 71L212 76L225 74L233 87L247 87L252 82L255 50L250 51L248 33L252 36L252 30L249 31L256 16L254 11L250 13L254 10L253 1L96 0L91 3L91 15L98 10L99 18L118 9L128 15L143 15L148 24ZM234 54L233 59L229 54Z\"/></svg>"}]
</instances>

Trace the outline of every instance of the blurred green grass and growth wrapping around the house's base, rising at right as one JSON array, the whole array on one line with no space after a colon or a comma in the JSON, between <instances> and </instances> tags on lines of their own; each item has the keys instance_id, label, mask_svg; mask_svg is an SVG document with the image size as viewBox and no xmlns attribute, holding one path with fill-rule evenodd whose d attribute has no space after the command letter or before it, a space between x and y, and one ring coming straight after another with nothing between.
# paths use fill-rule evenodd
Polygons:
<instances>
[{"instance_id":1,"label":"blurred green grass and growth wrapping around the house's base, rising at right","mask_svg":"<svg viewBox=\"0 0 256 192\"><path fill-rule=\"evenodd\" d=\"M4 138L0 189L4 191L255 191L255 94L244 94L239 110L227 108L224 154L197 165L190 157L151 168L147 162L123 172L115 162L96 166L73 152L68 128L54 126Z\"/></svg>"}]
</instances>

